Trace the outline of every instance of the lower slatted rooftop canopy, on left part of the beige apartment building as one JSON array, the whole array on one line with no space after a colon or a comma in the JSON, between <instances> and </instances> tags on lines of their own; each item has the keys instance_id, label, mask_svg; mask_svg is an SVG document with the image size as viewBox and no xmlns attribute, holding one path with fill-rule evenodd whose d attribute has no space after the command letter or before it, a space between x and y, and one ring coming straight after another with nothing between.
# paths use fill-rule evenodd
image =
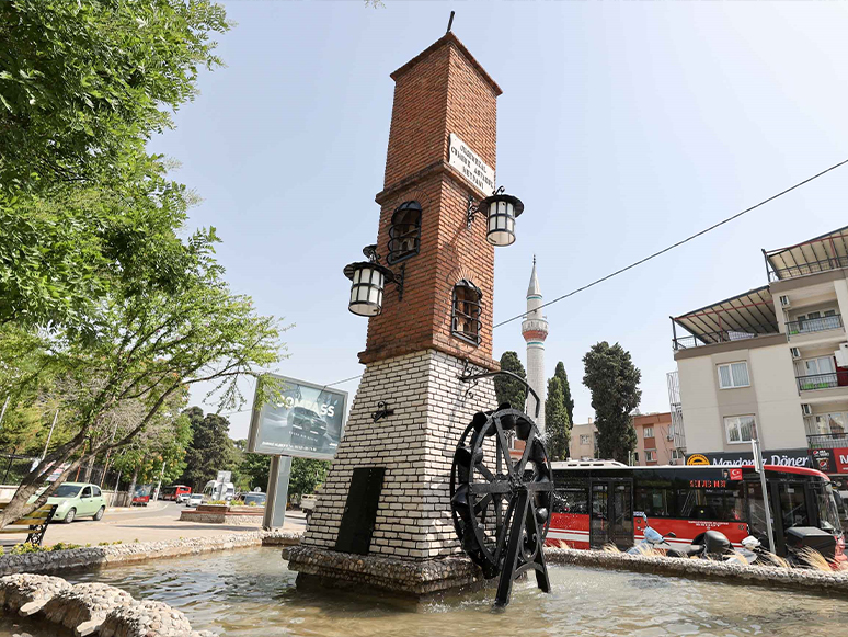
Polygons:
<instances>
[{"instance_id":1,"label":"lower slatted rooftop canopy, on left part of the beige apartment building","mask_svg":"<svg viewBox=\"0 0 848 637\"><path fill-rule=\"evenodd\" d=\"M779 333L775 304L767 285L725 298L678 317L672 317L691 335L675 329L675 350L753 339Z\"/></svg>"}]
</instances>

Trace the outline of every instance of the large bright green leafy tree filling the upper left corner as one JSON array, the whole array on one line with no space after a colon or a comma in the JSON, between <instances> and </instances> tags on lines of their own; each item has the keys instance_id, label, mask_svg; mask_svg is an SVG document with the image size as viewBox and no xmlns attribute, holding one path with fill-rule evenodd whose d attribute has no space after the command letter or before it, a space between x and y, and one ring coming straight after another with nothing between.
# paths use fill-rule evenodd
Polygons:
<instances>
[{"instance_id":1,"label":"large bright green leafy tree filling the upper left corner","mask_svg":"<svg viewBox=\"0 0 848 637\"><path fill-rule=\"evenodd\" d=\"M193 197L146 141L227 29L208 0L0 2L0 325L91 337L114 285L174 293Z\"/></svg>"}]
</instances>

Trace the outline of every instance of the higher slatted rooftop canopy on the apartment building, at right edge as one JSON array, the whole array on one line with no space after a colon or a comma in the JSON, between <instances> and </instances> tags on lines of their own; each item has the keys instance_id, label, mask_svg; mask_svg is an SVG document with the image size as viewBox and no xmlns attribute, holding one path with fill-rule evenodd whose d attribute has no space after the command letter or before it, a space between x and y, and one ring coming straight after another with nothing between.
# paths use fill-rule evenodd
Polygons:
<instances>
[{"instance_id":1,"label":"higher slatted rooftop canopy on the apartment building, at right edge","mask_svg":"<svg viewBox=\"0 0 848 637\"><path fill-rule=\"evenodd\" d=\"M848 268L848 226L801 243L763 251L770 281Z\"/></svg>"}]
</instances>

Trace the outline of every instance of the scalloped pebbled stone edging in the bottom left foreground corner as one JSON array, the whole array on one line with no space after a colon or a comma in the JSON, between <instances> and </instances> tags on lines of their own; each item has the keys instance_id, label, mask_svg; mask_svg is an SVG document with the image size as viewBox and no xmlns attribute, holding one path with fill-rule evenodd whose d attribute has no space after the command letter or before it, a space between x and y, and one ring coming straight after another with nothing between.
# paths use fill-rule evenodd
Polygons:
<instances>
[{"instance_id":1,"label":"scalloped pebbled stone edging in the bottom left foreground corner","mask_svg":"<svg viewBox=\"0 0 848 637\"><path fill-rule=\"evenodd\" d=\"M18 573L0 578L0 606L101 637L216 637L192 630L185 615L168 604L133 596L107 584L71 585L53 576Z\"/></svg>"}]
</instances>

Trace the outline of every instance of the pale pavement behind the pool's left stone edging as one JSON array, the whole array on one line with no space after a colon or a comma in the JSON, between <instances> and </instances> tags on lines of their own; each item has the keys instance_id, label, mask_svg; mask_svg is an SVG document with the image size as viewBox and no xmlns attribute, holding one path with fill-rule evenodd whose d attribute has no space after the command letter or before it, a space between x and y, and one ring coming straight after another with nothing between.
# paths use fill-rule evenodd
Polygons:
<instances>
[{"instance_id":1,"label":"pale pavement behind the pool's left stone edging","mask_svg":"<svg viewBox=\"0 0 848 637\"><path fill-rule=\"evenodd\" d=\"M69 544L91 544L114 542L160 542L183 537L207 537L227 533L255 531L256 526L236 526L228 524L202 524L180 522L180 512L184 504L175 502L151 502L148 507L136 507L117 511L106 511L100 522L90 519L75 520L70 524L50 524L44 536L44 545L57 542ZM285 531L305 531L306 519L299 511L286 513ZM9 547L26 539L25 535L2 536L2 544Z\"/></svg>"}]
</instances>

